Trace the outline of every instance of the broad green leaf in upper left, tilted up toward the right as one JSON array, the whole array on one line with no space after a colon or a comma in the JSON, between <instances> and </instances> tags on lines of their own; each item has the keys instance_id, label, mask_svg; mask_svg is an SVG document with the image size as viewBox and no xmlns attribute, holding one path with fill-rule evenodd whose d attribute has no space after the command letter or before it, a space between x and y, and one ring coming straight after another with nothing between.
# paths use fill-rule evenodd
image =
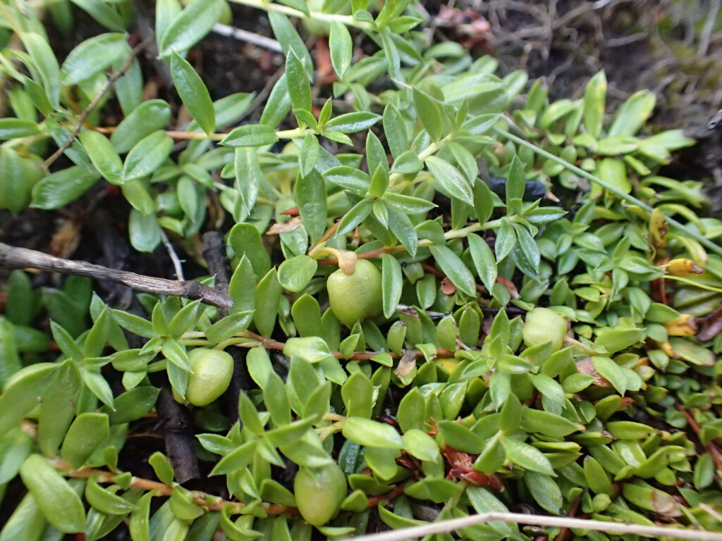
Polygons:
<instances>
[{"instance_id":1,"label":"broad green leaf in upper left, tilted up toward the right","mask_svg":"<svg viewBox=\"0 0 722 541\"><path fill-rule=\"evenodd\" d=\"M71 50L63 62L63 84L71 87L89 79L129 56L130 52L125 34L100 34L87 39Z\"/></svg>"}]
</instances>

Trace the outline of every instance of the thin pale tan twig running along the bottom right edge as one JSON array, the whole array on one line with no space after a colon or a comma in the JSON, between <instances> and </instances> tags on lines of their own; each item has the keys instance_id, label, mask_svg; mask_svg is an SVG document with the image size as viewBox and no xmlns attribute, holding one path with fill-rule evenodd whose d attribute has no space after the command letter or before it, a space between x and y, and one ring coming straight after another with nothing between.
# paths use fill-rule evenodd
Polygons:
<instances>
[{"instance_id":1,"label":"thin pale tan twig running along the bottom right edge","mask_svg":"<svg viewBox=\"0 0 722 541\"><path fill-rule=\"evenodd\" d=\"M652 535L669 539L691 539L695 541L722 541L722 534L705 532L697 529L677 529L661 526L643 526L642 524L625 524L623 522L604 522L601 520L571 519L567 516L532 515L523 513L481 513L462 516L459 519L431 522L421 526L401 528L378 534L349 537L344 541L404 541L414 537L452 532L456 529L486 524L492 520L513 522L515 524L531 524L534 526L567 527L593 529L597 532L615 532L632 535Z\"/></svg>"}]
</instances>

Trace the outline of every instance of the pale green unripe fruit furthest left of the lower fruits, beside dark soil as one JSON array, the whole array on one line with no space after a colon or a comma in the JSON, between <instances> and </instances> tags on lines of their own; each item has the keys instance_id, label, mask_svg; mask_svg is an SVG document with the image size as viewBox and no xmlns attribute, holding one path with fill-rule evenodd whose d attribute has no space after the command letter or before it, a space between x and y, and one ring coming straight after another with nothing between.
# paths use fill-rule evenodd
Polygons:
<instances>
[{"instance_id":1,"label":"pale green unripe fruit furthest left of the lower fruits, beside dark soil","mask_svg":"<svg viewBox=\"0 0 722 541\"><path fill-rule=\"evenodd\" d=\"M193 405L212 403L225 392L233 375L233 358L225 351L195 348L188 353L192 374L188 374L186 399Z\"/></svg>"}]
</instances>

